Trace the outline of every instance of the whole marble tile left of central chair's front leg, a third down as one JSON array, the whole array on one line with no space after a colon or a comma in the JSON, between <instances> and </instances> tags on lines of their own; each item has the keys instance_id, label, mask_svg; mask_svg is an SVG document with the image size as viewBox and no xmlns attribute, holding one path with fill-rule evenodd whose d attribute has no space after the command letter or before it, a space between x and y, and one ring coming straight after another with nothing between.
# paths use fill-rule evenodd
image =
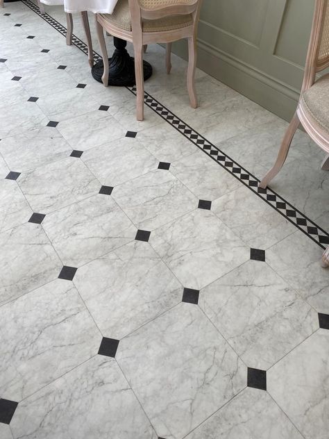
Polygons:
<instances>
[{"instance_id":1,"label":"whole marble tile left of central chair's front leg, a third down","mask_svg":"<svg viewBox=\"0 0 329 439\"><path fill-rule=\"evenodd\" d=\"M126 135L128 129L115 122L107 111L95 110L85 115L72 117L57 126L58 131L69 142L72 149L85 151Z\"/></svg>"}]
</instances>

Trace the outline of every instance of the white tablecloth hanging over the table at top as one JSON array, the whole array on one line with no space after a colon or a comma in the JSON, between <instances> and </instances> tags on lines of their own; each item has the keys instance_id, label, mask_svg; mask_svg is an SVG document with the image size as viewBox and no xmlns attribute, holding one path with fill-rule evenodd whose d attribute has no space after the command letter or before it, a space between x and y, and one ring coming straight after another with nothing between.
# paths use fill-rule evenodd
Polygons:
<instances>
[{"instance_id":1,"label":"white tablecloth hanging over the table at top","mask_svg":"<svg viewBox=\"0 0 329 439\"><path fill-rule=\"evenodd\" d=\"M50 6L64 5L67 13L81 13L90 10L92 13L112 14L118 0L40 0Z\"/></svg>"}]
</instances>

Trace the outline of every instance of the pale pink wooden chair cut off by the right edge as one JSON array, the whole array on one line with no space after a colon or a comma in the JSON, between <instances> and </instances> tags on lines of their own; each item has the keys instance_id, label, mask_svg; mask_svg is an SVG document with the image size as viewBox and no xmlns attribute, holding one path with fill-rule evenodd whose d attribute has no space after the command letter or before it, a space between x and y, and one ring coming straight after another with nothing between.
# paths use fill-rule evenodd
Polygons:
<instances>
[{"instance_id":1,"label":"pale pink wooden chair cut off by the right edge","mask_svg":"<svg viewBox=\"0 0 329 439\"><path fill-rule=\"evenodd\" d=\"M300 123L310 138L327 153L321 167L323 170L329 170L329 74L324 74L318 80L316 78L316 74L327 67L329 67L329 4L328 0L316 0L301 97L282 140L276 163L260 182L260 188L266 188L282 168ZM329 247L323 254L323 265L329 266Z\"/></svg>"}]
</instances>

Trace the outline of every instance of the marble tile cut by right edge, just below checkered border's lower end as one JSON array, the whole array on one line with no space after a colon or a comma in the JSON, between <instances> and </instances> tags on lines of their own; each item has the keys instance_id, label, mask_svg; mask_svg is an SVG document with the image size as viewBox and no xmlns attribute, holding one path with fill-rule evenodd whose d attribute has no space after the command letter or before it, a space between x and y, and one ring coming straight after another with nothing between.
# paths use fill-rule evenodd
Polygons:
<instances>
[{"instance_id":1,"label":"marble tile cut by right edge, just below checkered border's lower end","mask_svg":"<svg viewBox=\"0 0 329 439\"><path fill-rule=\"evenodd\" d=\"M297 231L267 250L267 263L319 312L329 314L328 270L323 250Z\"/></svg>"}]
</instances>

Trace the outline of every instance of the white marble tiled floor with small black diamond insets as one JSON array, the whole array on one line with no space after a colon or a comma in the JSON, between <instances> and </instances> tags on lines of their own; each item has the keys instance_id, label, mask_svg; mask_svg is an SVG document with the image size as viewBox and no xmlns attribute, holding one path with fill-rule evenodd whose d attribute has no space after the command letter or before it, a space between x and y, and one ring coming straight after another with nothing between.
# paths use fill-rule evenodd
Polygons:
<instances>
[{"instance_id":1,"label":"white marble tiled floor with small black diamond insets","mask_svg":"<svg viewBox=\"0 0 329 439\"><path fill-rule=\"evenodd\" d=\"M328 439L323 154L258 190L286 122L158 46L136 122L47 13L0 12L0 438Z\"/></svg>"}]
</instances>

